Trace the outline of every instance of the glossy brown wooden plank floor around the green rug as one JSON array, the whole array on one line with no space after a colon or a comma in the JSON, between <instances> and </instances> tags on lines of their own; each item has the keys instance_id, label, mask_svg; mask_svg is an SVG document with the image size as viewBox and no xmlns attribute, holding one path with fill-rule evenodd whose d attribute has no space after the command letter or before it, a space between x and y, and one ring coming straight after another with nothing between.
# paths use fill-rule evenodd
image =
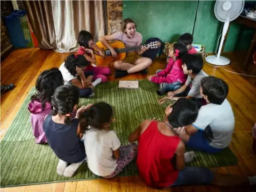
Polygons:
<instances>
[{"instance_id":1,"label":"glossy brown wooden plank floor around the green rug","mask_svg":"<svg viewBox=\"0 0 256 192\"><path fill-rule=\"evenodd\" d=\"M55 53L40 49L22 49L14 51L1 63L1 84L15 83L14 90L1 95L1 140L11 125L16 113L35 85L38 75L46 69L59 67L68 54ZM229 54L231 65L226 69L233 71L239 66ZM157 69L163 69L165 62L158 60L149 68L149 74ZM256 88L255 79L245 80L242 76L226 72L222 67L205 63L203 70L216 77L223 78L229 85L228 100L235 114L235 130L229 147L236 155L239 164L230 167L214 168L219 173L241 175L256 174L256 155L251 157L252 135L251 128L256 122ZM131 75L123 79L142 79L146 75ZM114 80L113 76L109 77ZM250 83L249 83L249 82ZM251 83L252 82L252 83ZM255 84L254 84L255 85ZM4 175L1 175L4 176ZM230 191L252 191L252 188L232 188ZM1 188L1 191L158 191L147 187L138 176L117 177L110 180L97 179L77 182L61 182L51 184L28 185L20 187ZM162 191L229 191L216 186L183 186L166 188ZM254 190L256 191L256 190Z\"/></svg>"}]
</instances>

